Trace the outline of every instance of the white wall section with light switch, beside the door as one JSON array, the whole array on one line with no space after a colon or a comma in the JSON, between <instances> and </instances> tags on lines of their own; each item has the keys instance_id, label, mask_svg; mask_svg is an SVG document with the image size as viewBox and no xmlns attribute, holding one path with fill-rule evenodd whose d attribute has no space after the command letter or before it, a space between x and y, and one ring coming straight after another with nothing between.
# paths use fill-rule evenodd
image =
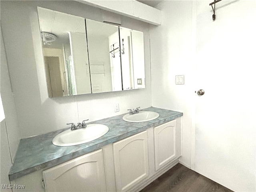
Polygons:
<instances>
[{"instance_id":1,"label":"white wall section with light switch, beside the door","mask_svg":"<svg viewBox=\"0 0 256 192\"><path fill-rule=\"evenodd\" d=\"M162 25L150 27L152 106L183 112L183 156L190 167L193 96L192 1L164 1ZM175 76L185 84L176 85Z\"/></svg>"}]
</instances>

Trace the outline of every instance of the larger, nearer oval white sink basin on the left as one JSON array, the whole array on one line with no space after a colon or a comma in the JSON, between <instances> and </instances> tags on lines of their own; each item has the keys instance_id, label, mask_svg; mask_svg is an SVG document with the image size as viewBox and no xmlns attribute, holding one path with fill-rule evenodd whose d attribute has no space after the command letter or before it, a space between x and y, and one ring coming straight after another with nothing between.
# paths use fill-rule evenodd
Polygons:
<instances>
[{"instance_id":1,"label":"larger, nearer oval white sink basin on the left","mask_svg":"<svg viewBox=\"0 0 256 192\"><path fill-rule=\"evenodd\" d=\"M102 124L89 124L85 128L66 130L56 135L52 143L56 146L73 146L87 143L100 138L108 132L109 128Z\"/></svg>"}]
</instances>

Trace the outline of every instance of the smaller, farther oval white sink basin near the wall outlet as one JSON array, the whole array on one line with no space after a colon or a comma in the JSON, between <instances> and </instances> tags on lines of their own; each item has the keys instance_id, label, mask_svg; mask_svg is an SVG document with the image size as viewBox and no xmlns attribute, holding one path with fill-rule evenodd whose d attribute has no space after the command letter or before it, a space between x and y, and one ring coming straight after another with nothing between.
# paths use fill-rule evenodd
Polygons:
<instances>
[{"instance_id":1,"label":"smaller, farther oval white sink basin near the wall outlet","mask_svg":"<svg viewBox=\"0 0 256 192\"><path fill-rule=\"evenodd\" d=\"M136 114L126 114L123 116L123 120L127 122L144 122L156 119L159 114L153 111L140 111Z\"/></svg>"}]
</instances>

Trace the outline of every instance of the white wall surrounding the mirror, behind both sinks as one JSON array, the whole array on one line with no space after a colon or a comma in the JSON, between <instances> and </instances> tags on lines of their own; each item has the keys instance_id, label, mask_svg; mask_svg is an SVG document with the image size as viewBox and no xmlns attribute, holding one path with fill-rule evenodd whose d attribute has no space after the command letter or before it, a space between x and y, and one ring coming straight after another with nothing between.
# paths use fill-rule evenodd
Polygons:
<instances>
[{"instance_id":1,"label":"white wall surrounding the mirror, behind both sinks","mask_svg":"<svg viewBox=\"0 0 256 192\"><path fill-rule=\"evenodd\" d=\"M151 106L149 25L126 17L121 17L122 26L144 32L146 89L48 98L37 6L102 20L100 9L74 1L1 1L1 25L21 138L67 128L70 122L94 121L126 113L128 108ZM114 113L115 103L119 103L120 112Z\"/></svg>"}]
</instances>

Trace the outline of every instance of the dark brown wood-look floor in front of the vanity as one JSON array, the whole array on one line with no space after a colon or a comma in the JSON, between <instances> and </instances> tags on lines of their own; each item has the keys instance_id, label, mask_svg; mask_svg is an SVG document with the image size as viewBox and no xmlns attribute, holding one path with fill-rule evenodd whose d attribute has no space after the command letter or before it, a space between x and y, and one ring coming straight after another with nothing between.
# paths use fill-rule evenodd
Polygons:
<instances>
[{"instance_id":1,"label":"dark brown wood-look floor in front of the vanity","mask_svg":"<svg viewBox=\"0 0 256 192\"><path fill-rule=\"evenodd\" d=\"M140 192L233 192L232 190L177 164Z\"/></svg>"}]
</instances>

